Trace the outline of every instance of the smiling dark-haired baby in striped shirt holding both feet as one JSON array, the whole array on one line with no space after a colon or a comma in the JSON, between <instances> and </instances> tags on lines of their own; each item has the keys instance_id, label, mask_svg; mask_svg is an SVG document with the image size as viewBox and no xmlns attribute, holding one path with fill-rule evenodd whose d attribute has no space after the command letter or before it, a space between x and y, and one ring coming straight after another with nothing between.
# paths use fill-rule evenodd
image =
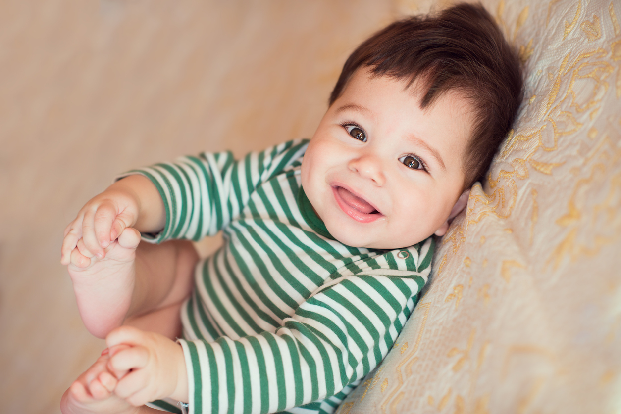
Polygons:
<instances>
[{"instance_id":1,"label":"smiling dark-haired baby in striped shirt holding both feet","mask_svg":"<svg viewBox=\"0 0 621 414\"><path fill-rule=\"evenodd\" d=\"M333 412L414 310L433 235L521 91L491 16L461 4L362 43L310 141L121 176L65 231L80 315L108 348L63 413ZM189 240L220 230L199 261Z\"/></svg>"}]
</instances>

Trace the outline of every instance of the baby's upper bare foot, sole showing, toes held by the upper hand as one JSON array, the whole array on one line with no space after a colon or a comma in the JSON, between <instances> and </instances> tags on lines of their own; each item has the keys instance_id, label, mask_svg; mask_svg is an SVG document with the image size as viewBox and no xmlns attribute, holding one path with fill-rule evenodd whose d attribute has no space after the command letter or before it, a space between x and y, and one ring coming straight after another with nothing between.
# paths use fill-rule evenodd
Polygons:
<instances>
[{"instance_id":1,"label":"baby's upper bare foot, sole showing, toes held by the upper hand","mask_svg":"<svg viewBox=\"0 0 621 414\"><path fill-rule=\"evenodd\" d=\"M82 240L71 252L67 266L73 282L78 309L86 329L97 338L122 325L132 302L135 285L136 248L140 233L125 228L106 248L106 257L97 259Z\"/></svg>"}]
</instances>

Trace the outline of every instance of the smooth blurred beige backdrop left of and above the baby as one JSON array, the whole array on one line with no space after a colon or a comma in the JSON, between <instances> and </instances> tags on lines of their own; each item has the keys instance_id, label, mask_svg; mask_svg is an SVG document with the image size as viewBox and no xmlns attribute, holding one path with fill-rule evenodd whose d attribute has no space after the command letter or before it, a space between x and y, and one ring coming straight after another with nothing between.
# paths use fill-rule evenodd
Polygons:
<instances>
[{"instance_id":1,"label":"smooth blurred beige backdrop left of and above the baby","mask_svg":"<svg viewBox=\"0 0 621 414\"><path fill-rule=\"evenodd\" d=\"M0 412L56 413L104 348L60 265L126 169L310 137L389 1L0 1Z\"/></svg>"}]
</instances>

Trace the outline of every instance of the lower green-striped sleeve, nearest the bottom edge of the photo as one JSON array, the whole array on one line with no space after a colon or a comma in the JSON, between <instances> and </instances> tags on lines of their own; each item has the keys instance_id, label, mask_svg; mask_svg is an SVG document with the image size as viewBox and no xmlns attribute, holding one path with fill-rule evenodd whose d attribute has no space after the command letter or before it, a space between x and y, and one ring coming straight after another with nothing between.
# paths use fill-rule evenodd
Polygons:
<instances>
[{"instance_id":1,"label":"lower green-striped sleeve, nearest the bottom edge of the photo","mask_svg":"<svg viewBox=\"0 0 621 414\"><path fill-rule=\"evenodd\" d=\"M432 244L410 248L415 271L357 269L328 281L273 332L182 340L189 412L276 412L330 397L363 378L414 309ZM321 412L321 403L329 402L308 408Z\"/></svg>"}]
</instances>

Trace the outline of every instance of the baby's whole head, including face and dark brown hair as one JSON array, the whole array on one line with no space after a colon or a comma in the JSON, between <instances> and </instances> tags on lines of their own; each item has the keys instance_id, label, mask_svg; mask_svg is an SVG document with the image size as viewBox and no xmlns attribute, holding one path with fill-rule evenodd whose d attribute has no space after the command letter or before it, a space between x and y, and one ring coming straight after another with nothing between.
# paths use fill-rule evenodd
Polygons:
<instances>
[{"instance_id":1,"label":"baby's whole head, including face and dark brown hair","mask_svg":"<svg viewBox=\"0 0 621 414\"><path fill-rule=\"evenodd\" d=\"M483 7L395 22L345 62L302 161L304 192L346 245L442 236L521 96L517 55Z\"/></svg>"}]
</instances>

